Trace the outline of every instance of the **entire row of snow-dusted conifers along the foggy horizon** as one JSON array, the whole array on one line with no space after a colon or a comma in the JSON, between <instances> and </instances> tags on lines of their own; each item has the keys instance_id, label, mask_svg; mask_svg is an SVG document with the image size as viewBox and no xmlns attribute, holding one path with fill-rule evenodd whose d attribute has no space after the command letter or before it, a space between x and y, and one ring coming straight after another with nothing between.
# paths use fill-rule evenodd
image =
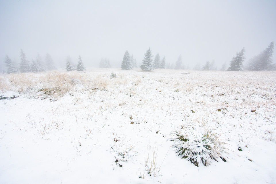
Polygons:
<instances>
[{"instance_id":1,"label":"entire row of snow-dusted conifers along the foggy horizon","mask_svg":"<svg viewBox=\"0 0 276 184\"><path fill-rule=\"evenodd\" d=\"M226 62L222 65L222 68L220 70L222 71L268 71L268 70L276 70L276 63L273 63L272 56L273 56L273 49L274 49L274 42L272 41L269 46L264 49L260 54L253 56L248 60L248 63L246 66L244 66L244 60L245 60L245 48L242 48L240 52L237 52L236 55L230 60L230 66L228 69L226 69ZM166 68L166 60L165 56L162 60L160 60L159 53L156 54L155 58L152 59L154 56L152 54L152 50L148 48L144 54L144 58L142 60L142 64L140 65L140 68L142 71L152 71L153 69ZM26 55L23 52L23 50L20 50L20 63L19 67L15 62L12 62L8 55L6 55L4 60L5 66L6 66L6 73L25 73L25 72L43 72L43 71L50 71L55 70L56 67L54 66L53 59L50 56L50 54L46 54L45 62L42 61L42 58L39 54L37 54L37 57L32 59L32 62L28 61L26 59ZM110 68L110 62L109 59L101 59L99 63L100 68ZM131 70L132 68L136 68L137 63L136 59L133 58L133 54L130 56L128 50L124 53L122 63L121 63L121 69L123 70ZM66 71L85 71L86 68L82 62L81 56L78 58L78 64L76 67L72 66L70 58L67 58L66 62ZM167 68L171 69L184 69L185 66L182 62L182 56L179 55L177 61ZM200 70L200 64L196 64L196 66L193 68L193 70ZM217 68L214 66L214 60L210 63L209 61L206 62L201 68L201 70L217 70Z\"/></svg>"}]
</instances>

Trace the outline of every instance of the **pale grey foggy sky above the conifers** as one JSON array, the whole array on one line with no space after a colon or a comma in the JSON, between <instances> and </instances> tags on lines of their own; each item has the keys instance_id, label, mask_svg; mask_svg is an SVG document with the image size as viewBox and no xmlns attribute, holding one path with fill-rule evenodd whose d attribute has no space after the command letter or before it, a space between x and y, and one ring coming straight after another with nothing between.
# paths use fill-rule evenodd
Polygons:
<instances>
[{"instance_id":1,"label":"pale grey foggy sky above the conifers","mask_svg":"<svg viewBox=\"0 0 276 184\"><path fill-rule=\"evenodd\" d=\"M86 67L109 58L120 67L129 51L141 64L147 48L166 63L182 55L190 68L215 60L218 69L245 47L246 61L276 42L276 1L1 0L0 65L49 53L57 67L81 55ZM275 62L276 48L273 61Z\"/></svg>"}]
</instances>

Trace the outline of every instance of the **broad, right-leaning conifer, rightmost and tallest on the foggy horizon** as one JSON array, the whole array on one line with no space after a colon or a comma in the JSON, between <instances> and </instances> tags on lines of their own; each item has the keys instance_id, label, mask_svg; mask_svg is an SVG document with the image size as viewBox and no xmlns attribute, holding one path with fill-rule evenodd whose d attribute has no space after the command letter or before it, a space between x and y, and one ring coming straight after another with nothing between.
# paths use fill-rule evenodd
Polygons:
<instances>
[{"instance_id":1,"label":"broad, right-leaning conifer, rightmost and tallest on the foggy horizon","mask_svg":"<svg viewBox=\"0 0 276 184\"><path fill-rule=\"evenodd\" d=\"M263 50L259 55L250 58L247 69L250 71L268 71L275 70L276 64L272 61L274 42Z\"/></svg>"}]
</instances>

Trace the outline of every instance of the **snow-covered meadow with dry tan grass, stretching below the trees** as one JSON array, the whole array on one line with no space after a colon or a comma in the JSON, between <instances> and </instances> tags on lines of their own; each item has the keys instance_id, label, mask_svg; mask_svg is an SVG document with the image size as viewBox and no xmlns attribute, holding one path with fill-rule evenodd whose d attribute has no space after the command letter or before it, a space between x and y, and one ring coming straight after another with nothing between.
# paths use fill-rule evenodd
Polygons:
<instances>
[{"instance_id":1,"label":"snow-covered meadow with dry tan grass, stretching below the trees","mask_svg":"<svg viewBox=\"0 0 276 184\"><path fill-rule=\"evenodd\" d=\"M276 72L1 75L0 99L0 183L276 183ZM217 161L177 153L206 133Z\"/></svg>"}]
</instances>

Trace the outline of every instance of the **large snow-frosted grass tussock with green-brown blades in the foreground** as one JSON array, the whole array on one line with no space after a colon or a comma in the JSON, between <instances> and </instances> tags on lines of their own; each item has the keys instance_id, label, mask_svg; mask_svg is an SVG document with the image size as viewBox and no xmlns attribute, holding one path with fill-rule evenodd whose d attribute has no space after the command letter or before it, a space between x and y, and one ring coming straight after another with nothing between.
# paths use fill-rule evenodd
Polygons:
<instances>
[{"instance_id":1,"label":"large snow-frosted grass tussock with green-brown blades in the foreground","mask_svg":"<svg viewBox=\"0 0 276 184\"><path fill-rule=\"evenodd\" d=\"M176 130L174 135L176 137L173 138L173 141L176 143L173 146L178 155L191 161L195 166L210 165L212 159L218 161L221 158L226 161L221 155L225 152L223 146L225 143L219 140L212 130L204 130L203 133L200 133L195 129L187 132L184 128Z\"/></svg>"}]
</instances>

